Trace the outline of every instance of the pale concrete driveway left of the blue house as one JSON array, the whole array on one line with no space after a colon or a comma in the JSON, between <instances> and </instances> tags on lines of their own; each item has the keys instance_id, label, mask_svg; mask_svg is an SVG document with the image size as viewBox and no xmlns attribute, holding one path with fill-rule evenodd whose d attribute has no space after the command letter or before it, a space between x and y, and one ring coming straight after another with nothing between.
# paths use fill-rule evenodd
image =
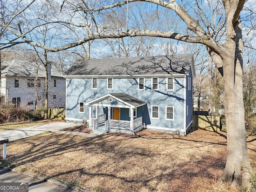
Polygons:
<instances>
[{"instance_id":1,"label":"pale concrete driveway left of the blue house","mask_svg":"<svg viewBox=\"0 0 256 192\"><path fill-rule=\"evenodd\" d=\"M12 130L6 130L0 132L0 140L9 139L10 141L27 138L34 136L46 131L58 132L61 129L78 126L76 123L66 123L66 122L53 122L42 125L35 125L25 128L18 128Z\"/></svg>"}]
</instances>

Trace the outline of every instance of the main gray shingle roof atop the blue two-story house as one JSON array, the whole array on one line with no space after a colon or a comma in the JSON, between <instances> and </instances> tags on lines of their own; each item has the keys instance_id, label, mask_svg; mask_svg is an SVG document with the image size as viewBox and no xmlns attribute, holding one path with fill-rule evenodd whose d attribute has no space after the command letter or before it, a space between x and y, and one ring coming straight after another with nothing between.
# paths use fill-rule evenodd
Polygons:
<instances>
[{"instance_id":1,"label":"main gray shingle roof atop the blue two-story house","mask_svg":"<svg viewBox=\"0 0 256 192\"><path fill-rule=\"evenodd\" d=\"M188 74L192 54L78 60L66 75Z\"/></svg>"}]
</instances>

